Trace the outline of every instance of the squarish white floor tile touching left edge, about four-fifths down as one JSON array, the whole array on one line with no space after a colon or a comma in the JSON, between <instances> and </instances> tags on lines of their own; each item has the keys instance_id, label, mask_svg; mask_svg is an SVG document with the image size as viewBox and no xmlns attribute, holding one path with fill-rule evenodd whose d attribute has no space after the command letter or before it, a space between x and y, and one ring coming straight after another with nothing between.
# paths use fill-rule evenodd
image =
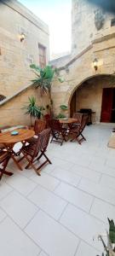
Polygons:
<instances>
[{"instance_id":1,"label":"squarish white floor tile touching left edge, about four-fifths down","mask_svg":"<svg viewBox=\"0 0 115 256\"><path fill-rule=\"evenodd\" d=\"M0 206L21 229L26 226L38 210L36 206L16 191L11 192L3 201L0 201Z\"/></svg>"}]
</instances>

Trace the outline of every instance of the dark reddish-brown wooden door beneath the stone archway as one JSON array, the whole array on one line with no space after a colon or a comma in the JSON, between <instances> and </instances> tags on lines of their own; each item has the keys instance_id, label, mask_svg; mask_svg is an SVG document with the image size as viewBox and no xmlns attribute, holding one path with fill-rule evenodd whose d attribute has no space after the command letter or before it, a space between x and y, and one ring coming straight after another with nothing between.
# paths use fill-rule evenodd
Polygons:
<instances>
[{"instance_id":1,"label":"dark reddish-brown wooden door beneath the stone archway","mask_svg":"<svg viewBox=\"0 0 115 256\"><path fill-rule=\"evenodd\" d=\"M101 122L109 123L112 117L113 89L104 88L102 94Z\"/></svg>"}]
</instances>

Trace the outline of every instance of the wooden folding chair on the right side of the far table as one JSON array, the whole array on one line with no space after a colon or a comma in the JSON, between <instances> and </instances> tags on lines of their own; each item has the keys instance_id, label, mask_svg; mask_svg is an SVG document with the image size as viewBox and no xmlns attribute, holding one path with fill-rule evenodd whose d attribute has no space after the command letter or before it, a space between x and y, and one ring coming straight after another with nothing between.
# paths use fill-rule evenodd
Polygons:
<instances>
[{"instance_id":1,"label":"wooden folding chair on the right side of the far table","mask_svg":"<svg viewBox=\"0 0 115 256\"><path fill-rule=\"evenodd\" d=\"M78 143L81 144L83 141L86 141L86 138L83 136L83 130L84 130L85 126L87 125L88 119L89 119L89 115L83 114L81 125L79 125L79 126L69 125L69 133L68 134L72 136L71 142L73 140L77 140Z\"/></svg>"}]
</instances>

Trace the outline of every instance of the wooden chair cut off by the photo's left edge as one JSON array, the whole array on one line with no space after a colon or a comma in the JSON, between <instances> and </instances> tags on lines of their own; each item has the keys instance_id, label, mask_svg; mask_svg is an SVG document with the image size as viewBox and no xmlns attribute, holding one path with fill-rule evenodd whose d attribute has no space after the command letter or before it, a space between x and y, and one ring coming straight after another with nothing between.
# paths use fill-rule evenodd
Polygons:
<instances>
[{"instance_id":1,"label":"wooden chair cut off by the photo's left edge","mask_svg":"<svg viewBox=\"0 0 115 256\"><path fill-rule=\"evenodd\" d=\"M3 174L9 175L9 176L13 175L12 172L6 171L6 167L9 163L10 157L11 157L11 154L8 151L3 151L3 150L0 151L0 164L1 164L1 166L0 166L0 180L3 177Z\"/></svg>"}]
</instances>

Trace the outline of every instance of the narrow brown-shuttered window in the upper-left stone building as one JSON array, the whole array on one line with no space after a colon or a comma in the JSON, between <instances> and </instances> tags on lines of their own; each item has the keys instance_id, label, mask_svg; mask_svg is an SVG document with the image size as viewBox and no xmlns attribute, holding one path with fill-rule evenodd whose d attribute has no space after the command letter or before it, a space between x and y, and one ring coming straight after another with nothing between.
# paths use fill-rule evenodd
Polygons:
<instances>
[{"instance_id":1,"label":"narrow brown-shuttered window in the upper-left stone building","mask_svg":"<svg viewBox=\"0 0 115 256\"><path fill-rule=\"evenodd\" d=\"M39 49L39 66L46 66L46 48L42 44L38 44Z\"/></svg>"}]
</instances>

